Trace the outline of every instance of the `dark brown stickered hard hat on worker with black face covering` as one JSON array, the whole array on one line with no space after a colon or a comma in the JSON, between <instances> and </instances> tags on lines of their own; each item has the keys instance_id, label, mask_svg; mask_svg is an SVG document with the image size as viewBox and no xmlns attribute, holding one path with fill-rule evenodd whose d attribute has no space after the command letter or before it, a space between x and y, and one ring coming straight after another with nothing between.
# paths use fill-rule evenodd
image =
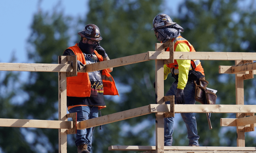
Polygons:
<instances>
[{"instance_id":1,"label":"dark brown stickered hard hat on worker with black face covering","mask_svg":"<svg viewBox=\"0 0 256 153\"><path fill-rule=\"evenodd\" d=\"M87 24L78 34L91 40L102 40L100 29L94 24Z\"/></svg>"}]
</instances>

